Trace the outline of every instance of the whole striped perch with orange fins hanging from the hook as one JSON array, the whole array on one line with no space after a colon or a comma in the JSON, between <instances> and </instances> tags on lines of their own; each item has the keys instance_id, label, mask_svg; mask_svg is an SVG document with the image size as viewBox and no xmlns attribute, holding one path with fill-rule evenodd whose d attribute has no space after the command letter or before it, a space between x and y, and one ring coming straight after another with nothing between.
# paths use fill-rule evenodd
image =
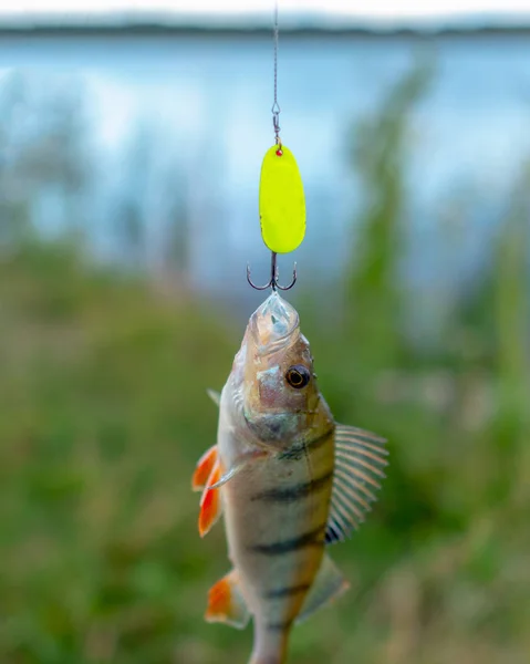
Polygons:
<instances>
[{"instance_id":1,"label":"whole striped perch with orange fins hanging from the hook","mask_svg":"<svg viewBox=\"0 0 530 664\"><path fill-rule=\"evenodd\" d=\"M376 499L384 438L336 424L319 391L297 310L277 291L250 317L220 395L217 444L191 480L199 535L224 517L232 569L205 619L253 621L249 664L284 664L293 625L350 587L328 547L351 537Z\"/></svg>"}]
</instances>

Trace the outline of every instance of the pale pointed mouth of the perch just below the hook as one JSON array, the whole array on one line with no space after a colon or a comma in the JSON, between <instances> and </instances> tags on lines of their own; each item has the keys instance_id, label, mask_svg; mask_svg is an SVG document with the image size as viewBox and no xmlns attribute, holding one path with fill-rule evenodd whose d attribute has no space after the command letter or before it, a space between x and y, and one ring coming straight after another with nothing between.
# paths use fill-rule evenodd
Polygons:
<instances>
[{"instance_id":1,"label":"pale pointed mouth of the perch just below the hook","mask_svg":"<svg viewBox=\"0 0 530 664\"><path fill-rule=\"evenodd\" d=\"M285 346L299 324L297 310L274 291L250 317L250 332L258 353L268 355Z\"/></svg>"}]
</instances>

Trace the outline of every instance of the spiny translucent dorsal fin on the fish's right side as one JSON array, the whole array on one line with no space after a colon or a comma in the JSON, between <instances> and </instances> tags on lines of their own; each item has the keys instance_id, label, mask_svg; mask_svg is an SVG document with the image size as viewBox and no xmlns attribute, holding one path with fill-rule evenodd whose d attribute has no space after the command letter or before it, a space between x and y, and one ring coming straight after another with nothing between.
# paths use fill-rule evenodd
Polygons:
<instances>
[{"instance_id":1,"label":"spiny translucent dorsal fin on the fish's right side","mask_svg":"<svg viewBox=\"0 0 530 664\"><path fill-rule=\"evenodd\" d=\"M353 426L335 429L335 470L325 542L344 541L364 521L385 477L384 438Z\"/></svg>"}]
</instances>

